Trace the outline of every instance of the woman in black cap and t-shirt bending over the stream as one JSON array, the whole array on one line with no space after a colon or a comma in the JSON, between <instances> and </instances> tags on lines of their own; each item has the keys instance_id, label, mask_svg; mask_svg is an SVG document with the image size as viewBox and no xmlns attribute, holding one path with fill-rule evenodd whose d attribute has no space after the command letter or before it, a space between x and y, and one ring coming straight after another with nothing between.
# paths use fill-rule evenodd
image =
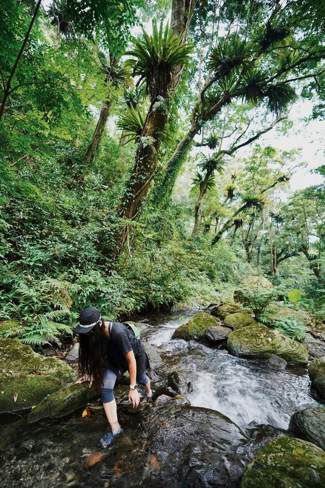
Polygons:
<instances>
[{"instance_id":1,"label":"woman in black cap and t-shirt bending over the stream","mask_svg":"<svg viewBox=\"0 0 325 488\"><path fill-rule=\"evenodd\" d=\"M79 371L81 379L77 383L90 381L101 389L104 410L112 432L100 440L102 447L107 447L113 439L123 432L117 420L114 386L127 370L130 374L129 403L138 407L140 397L138 384L146 389L146 398L151 400L150 379L146 375L148 356L142 343L125 324L106 322L101 312L95 307L85 308L79 317L75 331L79 334Z\"/></svg>"}]
</instances>

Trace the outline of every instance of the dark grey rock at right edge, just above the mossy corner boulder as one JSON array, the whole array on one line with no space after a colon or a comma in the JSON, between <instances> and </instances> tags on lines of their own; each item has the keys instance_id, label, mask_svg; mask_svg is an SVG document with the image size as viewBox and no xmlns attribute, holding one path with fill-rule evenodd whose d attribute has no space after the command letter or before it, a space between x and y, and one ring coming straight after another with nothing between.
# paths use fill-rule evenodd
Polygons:
<instances>
[{"instance_id":1,"label":"dark grey rock at right edge, just above the mossy corner boulder","mask_svg":"<svg viewBox=\"0 0 325 488\"><path fill-rule=\"evenodd\" d=\"M325 450L325 408L305 408L294 413L289 430Z\"/></svg>"}]
</instances>

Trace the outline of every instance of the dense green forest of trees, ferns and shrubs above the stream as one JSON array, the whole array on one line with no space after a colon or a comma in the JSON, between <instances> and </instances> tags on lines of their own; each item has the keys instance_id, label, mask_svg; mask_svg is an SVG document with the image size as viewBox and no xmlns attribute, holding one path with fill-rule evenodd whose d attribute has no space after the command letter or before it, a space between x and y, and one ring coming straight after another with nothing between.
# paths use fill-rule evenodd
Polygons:
<instances>
[{"instance_id":1,"label":"dense green forest of trees, ferns and shrubs above the stream","mask_svg":"<svg viewBox=\"0 0 325 488\"><path fill-rule=\"evenodd\" d=\"M0 4L3 334L53 343L87 305L229 299L257 272L325 318L325 186L290 191L299 148L263 142L308 131L303 100L324 117L324 6L171 7Z\"/></svg>"}]
</instances>

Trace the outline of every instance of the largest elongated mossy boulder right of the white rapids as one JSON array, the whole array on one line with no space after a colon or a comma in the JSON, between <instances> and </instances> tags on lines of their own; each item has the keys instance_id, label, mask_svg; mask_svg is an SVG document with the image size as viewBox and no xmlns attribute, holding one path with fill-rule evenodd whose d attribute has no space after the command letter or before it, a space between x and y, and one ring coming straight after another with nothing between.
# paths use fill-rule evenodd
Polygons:
<instances>
[{"instance_id":1,"label":"largest elongated mossy boulder right of the white rapids","mask_svg":"<svg viewBox=\"0 0 325 488\"><path fill-rule=\"evenodd\" d=\"M259 323L232 332L227 347L236 356L268 359L276 354L288 363L308 363L308 351L303 344Z\"/></svg>"}]
</instances>

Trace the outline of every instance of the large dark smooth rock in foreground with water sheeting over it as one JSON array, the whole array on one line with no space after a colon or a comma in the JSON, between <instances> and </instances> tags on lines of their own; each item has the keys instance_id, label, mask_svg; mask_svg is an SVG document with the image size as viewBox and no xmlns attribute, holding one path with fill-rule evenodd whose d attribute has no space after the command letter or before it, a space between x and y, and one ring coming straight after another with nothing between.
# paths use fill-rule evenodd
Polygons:
<instances>
[{"instance_id":1,"label":"large dark smooth rock in foreground with water sheeting over it","mask_svg":"<svg viewBox=\"0 0 325 488\"><path fill-rule=\"evenodd\" d=\"M170 405L155 410L156 421L146 432L159 467L146 486L237 486L249 460L250 440L219 412Z\"/></svg>"}]
</instances>

